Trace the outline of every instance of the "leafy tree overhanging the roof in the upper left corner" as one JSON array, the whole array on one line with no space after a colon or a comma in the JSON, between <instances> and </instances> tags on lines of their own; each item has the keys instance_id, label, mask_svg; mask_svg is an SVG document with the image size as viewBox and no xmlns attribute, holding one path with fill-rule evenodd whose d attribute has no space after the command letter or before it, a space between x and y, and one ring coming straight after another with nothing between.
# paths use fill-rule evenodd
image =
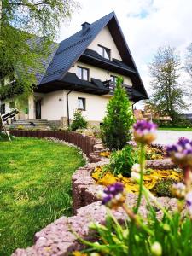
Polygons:
<instances>
[{"instance_id":1,"label":"leafy tree overhanging the roof in the upper left corner","mask_svg":"<svg viewBox=\"0 0 192 256\"><path fill-rule=\"evenodd\" d=\"M56 48L53 40L61 22L76 8L73 0L0 0L0 79L15 71L12 95L32 92L35 74L44 73L44 61ZM1 95L9 94L3 90Z\"/></svg>"}]
</instances>

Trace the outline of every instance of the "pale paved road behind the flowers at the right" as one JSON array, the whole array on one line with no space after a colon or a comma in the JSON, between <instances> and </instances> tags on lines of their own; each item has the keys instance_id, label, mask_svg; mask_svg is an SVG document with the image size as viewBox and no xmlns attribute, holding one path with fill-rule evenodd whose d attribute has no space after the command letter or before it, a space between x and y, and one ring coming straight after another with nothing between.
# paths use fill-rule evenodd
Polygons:
<instances>
[{"instance_id":1,"label":"pale paved road behind the flowers at the right","mask_svg":"<svg viewBox=\"0 0 192 256\"><path fill-rule=\"evenodd\" d=\"M176 143L179 137L187 137L192 140L192 131L158 131L154 143L169 145Z\"/></svg>"}]
</instances>

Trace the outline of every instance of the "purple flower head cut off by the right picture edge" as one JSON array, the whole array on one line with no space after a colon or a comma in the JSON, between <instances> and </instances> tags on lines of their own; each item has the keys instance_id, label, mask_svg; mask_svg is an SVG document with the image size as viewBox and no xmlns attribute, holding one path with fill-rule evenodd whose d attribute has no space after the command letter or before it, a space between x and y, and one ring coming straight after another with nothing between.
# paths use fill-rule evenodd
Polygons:
<instances>
[{"instance_id":1,"label":"purple flower head cut off by the right picture edge","mask_svg":"<svg viewBox=\"0 0 192 256\"><path fill-rule=\"evenodd\" d=\"M166 153L172 161L179 166L192 166L192 141L185 137L178 139L178 142L166 148Z\"/></svg>"}]
</instances>

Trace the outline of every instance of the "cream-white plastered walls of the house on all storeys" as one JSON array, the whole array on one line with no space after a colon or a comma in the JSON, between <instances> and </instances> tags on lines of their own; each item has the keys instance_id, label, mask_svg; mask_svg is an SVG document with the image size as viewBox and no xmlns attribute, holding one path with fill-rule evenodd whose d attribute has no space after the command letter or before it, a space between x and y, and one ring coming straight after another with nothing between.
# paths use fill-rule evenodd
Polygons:
<instances>
[{"instance_id":1,"label":"cream-white plastered walls of the house on all storeys","mask_svg":"<svg viewBox=\"0 0 192 256\"><path fill-rule=\"evenodd\" d=\"M122 61L119 51L113 41L111 33L108 30L108 26L104 27L102 31L96 36L93 42L88 46L88 49L93 49L98 52L98 45L102 45L110 49L111 60L117 59ZM63 60L65 61L65 60ZM73 64L68 72L76 73L78 66L89 69L89 80L91 78L100 79L106 81L111 79L111 75L119 76L118 73L112 73L108 70L94 67L88 64L84 64L77 61ZM122 76L124 84L132 85L129 77ZM37 119L37 105L36 102L41 102L41 119L47 119L51 121L59 121L61 119L67 119L67 93L69 90L56 90L50 93L34 93L33 96L29 97L28 100L28 119ZM69 106L69 119L73 119L73 113L78 108L78 98L84 98L85 110L82 111L84 118L90 123L99 124L102 122L103 117L106 114L106 106L108 104L110 95L98 96L94 94L72 91L68 95L68 106ZM9 103L6 103L6 112L9 112Z\"/></svg>"}]
</instances>

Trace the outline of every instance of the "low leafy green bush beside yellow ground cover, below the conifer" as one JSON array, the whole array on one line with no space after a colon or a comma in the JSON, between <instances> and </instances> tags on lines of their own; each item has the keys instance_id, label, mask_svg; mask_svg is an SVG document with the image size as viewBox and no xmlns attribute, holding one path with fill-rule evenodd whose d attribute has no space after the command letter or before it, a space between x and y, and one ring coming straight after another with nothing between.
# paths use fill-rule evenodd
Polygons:
<instances>
[{"instance_id":1,"label":"low leafy green bush beside yellow ground cover, below the conifer","mask_svg":"<svg viewBox=\"0 0 192 256\"><path fill-rule=\"evenodd\" d=\"M114 151L110 156L110 164L107 168L113 175L122 174L131 176L131 167L138 162L138 152L131 145L126 145L122 150Z\"/></svg>"}]
</instances>

